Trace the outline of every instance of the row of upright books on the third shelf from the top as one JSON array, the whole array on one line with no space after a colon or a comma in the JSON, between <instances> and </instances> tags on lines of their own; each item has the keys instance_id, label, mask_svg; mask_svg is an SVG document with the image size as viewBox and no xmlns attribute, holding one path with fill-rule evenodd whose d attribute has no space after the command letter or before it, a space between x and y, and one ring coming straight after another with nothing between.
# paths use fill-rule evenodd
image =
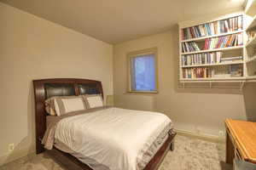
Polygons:
<instances>
[{"instance_id":1,"label":"row of upright books on the third shelf from the top","mask_svg":"<svg viewBox=\"0 0 256 170\"><path fill-rule=\"evenodd\" d=\"M223 52L190 54L182 56L182 65L204 65L221 62Z\"/></svg>"}]
</instances>

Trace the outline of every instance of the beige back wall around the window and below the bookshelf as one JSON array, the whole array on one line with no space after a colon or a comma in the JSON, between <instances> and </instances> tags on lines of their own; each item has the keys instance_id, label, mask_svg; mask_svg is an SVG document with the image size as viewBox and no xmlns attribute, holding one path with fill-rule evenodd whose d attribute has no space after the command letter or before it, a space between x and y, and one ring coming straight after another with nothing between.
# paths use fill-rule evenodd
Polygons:
<instances>
[{"instance_id":1,"label":"beige back wall around the window and below the bookshelf","mask_svg":"<svg viewBox=\"0 0 256 170\"><path fill-rule=\"evenodd\" d=\"M126 54L143 48L158 47L159 94L126 94ZM177 27L157 35L119 43L113 48L113 89L116 106L160 111L170 116L179 130L218 135L224 119L246 119L245 96L239 90L177 88ZM219 86L219 85L218 85ZM236 88L236 87L235 87ZM247 90L248 91L248 90ZM250 95L251 92L251 95ZM256 115L255 88L248 91L248 110ZM254 99L253 99L254 98ZM255 104L254 104L255 105Z\"/></svg>"}]
</instances>

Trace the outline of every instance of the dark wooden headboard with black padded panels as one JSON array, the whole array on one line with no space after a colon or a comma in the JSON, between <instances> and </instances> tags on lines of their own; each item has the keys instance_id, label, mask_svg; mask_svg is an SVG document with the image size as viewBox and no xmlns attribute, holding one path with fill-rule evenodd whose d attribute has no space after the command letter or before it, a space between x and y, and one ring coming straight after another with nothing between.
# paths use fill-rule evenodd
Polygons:
<instances>
[{"instance_id":1,"label":"dark wooden headboard with black padded panels","mask_svg":"<svg viewBox=\"0 0 256 170\"><path fill-rule=\"evenodd\" d=\"M87 79L55 78L34 80L35 114L36 114L36 149L37 154L44 151L41 140L46 131L47 113L44 107L45 99L53 96L70 96L81 94L102 94L102 82Z\"/></svg>"}]
</instances>

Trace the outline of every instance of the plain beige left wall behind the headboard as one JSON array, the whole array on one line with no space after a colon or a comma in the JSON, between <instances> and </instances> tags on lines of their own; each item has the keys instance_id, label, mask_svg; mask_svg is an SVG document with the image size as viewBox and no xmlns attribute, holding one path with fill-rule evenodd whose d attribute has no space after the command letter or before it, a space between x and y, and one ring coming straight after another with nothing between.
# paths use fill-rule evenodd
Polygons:
<instances>
[{"instance_id":1,"label":"plain beige left wall behind the headboard","mask_svg":"<svg viewBox=\"0 0 256 170\"><path fill-rule=\"evenodd\" d=\"M2 164L34 150L32 80L96 79L106 95L113 94L113 46L3 3L0 22Z\"/></svg>"}]
</instances>

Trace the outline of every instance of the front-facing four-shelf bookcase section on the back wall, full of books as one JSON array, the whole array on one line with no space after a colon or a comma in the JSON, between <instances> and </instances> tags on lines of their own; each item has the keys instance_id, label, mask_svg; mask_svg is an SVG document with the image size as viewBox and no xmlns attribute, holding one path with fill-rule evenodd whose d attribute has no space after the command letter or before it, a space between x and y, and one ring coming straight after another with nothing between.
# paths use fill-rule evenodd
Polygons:
<instances>
[{"instance_id":1,"label":"front-facing four-shelf bookcase section on the back wall, full of books","mask_svg":"<svg viewBox=\"0 0 256 170\"><path fill-rule=\"evenodd\" d=\"M180 81L244 80L244 29L242 13L179 23Z\"/></svg>"}]
</instances>

